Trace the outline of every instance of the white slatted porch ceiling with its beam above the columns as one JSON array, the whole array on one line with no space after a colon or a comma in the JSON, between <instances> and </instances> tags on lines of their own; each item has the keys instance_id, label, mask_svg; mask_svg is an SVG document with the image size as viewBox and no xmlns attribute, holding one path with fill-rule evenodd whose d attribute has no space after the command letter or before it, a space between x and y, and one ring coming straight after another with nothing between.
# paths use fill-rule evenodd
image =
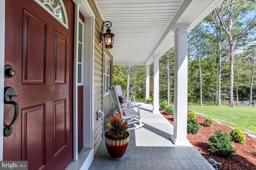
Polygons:
<instances>
[{"instance_id":1,"label":"white slatted porch ceiling with its beam above the columns","mask_svg":"<svg viewBox=\"0 0 256 170\"><path fill-rule=\"evenodd\" d=\"M113 64L151 64L174 44L172 27L189 23L191 30L223 0L95 0L110 21Z\"/></svg>"}]
</instances>

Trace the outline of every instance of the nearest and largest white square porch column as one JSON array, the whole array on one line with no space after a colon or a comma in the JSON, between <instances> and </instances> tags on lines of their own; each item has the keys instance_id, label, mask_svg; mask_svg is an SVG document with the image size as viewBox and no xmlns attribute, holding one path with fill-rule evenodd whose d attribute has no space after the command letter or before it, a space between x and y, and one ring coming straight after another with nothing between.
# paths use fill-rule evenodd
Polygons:
<instances>
[{"instance_id":1,"label":"nearest and largest white square porch column","mask_svg":"<svg viewBox=\"0 0 256 170\"><path fill-rule=\"evenodd\" d=\"M187 139L188 108L188 27L174 25L174 134L175 145L190 145Z\"/></svg>"}]
</instances>

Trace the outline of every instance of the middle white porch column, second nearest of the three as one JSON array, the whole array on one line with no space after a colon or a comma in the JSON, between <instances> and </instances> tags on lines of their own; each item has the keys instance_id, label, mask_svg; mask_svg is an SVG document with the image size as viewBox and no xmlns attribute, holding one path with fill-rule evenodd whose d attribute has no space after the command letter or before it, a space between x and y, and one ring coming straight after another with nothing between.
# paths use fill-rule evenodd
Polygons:
<instances>
[{"instance_id":1,"label":"middle white porch column, second nearest of the three","mask_svg":"<svg viewBox=\"0 0 256 170\"><path fill-rule=\"evenodd\" d=\"M153 113L159 112L159 55L154 57Z\"/></svg>"}]
</instances>

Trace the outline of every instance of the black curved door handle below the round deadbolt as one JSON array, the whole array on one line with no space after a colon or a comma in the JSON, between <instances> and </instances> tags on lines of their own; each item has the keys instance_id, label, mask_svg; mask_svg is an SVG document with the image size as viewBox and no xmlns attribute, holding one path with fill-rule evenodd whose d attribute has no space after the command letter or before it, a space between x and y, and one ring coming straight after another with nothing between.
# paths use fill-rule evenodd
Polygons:
<instances>
[{"instance_id":1,"label":"black curved door handle below the round deadbolt","mask_svg":"<svg viewBox=\"0 0 256 170\"><path fill-rule=\"evenodd\" d=\"M14 117L12 119L12 123L4 129L4 135L6 137L12 134L12 124L16 121L20 111L19 104L14 102L16 96L17 95L12 87L4 88L4 104L12 104L14 106Z\"/></svg>"}]
</instances>

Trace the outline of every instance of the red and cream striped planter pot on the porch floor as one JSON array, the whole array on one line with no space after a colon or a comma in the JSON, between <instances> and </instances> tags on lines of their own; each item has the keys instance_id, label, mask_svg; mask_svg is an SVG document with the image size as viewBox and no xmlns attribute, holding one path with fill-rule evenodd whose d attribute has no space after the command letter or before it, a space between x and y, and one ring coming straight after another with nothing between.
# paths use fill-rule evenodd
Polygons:
<instances>
[{"instance_id":1,"label":"red and cream striped planter pot on the porch floor","mask_svg":"<svg viewBox=\"0 0 256 170\"><path fill-rule=\"evenodd\" d=\"M109 139L106 137L107 133L105 133L105 143L108 150L108 157L112 160L122 160L130 139L129 133L127 138L119 140Z\"/></svg>"}]
</instances>

